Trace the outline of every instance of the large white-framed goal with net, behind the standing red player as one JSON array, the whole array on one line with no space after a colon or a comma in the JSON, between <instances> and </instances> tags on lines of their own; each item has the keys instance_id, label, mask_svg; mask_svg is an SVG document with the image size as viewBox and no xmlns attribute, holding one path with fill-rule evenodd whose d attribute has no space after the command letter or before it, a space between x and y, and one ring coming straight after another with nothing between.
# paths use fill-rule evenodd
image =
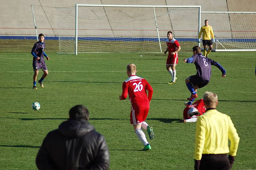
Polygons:
<instances>
[{"instance_id":1,"label":"large white-framed goal with net, behind the standing red player","mask_svg":"<svg viewBox=\"0 0 256 170\"><path fill-rule=\"evenodd\" d=\"M76 6L58 9L61 53L162 52L167 31L182 52L197 45L200 6Z\"/></svg>"}]
</instances>

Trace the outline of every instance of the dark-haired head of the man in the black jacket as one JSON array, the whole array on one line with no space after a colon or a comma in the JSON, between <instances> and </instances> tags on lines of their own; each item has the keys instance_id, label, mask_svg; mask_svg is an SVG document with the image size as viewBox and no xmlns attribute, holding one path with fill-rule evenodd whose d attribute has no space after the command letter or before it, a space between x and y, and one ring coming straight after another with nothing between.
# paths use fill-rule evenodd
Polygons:
<instances>
[{"instance_id":1,"label":"dark-haired head of the man in the black jacket","mask_svg":"<svg viewBox=\"0 0 256 170\"><path fill-rule=\"evenodd\" d=\"M89 111L84 105L76 105L69 110L69 118L74 120L89 120Z\"/></svg>"}]
</instances>

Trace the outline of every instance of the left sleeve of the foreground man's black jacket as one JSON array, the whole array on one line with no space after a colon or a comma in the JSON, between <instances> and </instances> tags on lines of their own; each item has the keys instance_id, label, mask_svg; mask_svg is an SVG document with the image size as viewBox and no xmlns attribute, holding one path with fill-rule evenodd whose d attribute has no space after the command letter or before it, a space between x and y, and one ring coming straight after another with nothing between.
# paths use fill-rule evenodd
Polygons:
<instances>
[{"instance_id":1,"label":"left sleeve of the foreground man's black jacket","mask_svg":"<svg viewBox=\"0 0 256 170\"><path fill-rule=\"evenodd\" d=\"M42 143L41 148L39 149L37 156L36 156L36 166L39 170L48 169L48 170L54 170L54 166L51 163L48 149L46 146L47 142L47 136L44 138L44 141Z\"/></svg>"}]
</instances>

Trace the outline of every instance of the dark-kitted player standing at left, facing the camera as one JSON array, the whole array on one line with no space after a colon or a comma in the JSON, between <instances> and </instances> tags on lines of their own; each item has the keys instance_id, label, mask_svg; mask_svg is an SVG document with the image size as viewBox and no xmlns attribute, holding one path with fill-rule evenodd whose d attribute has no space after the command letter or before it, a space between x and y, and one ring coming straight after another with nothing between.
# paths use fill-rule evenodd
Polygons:
<instances>
[{"instance_id":1,"label":"dark-kitted player standing at left, facing the camera","mask_svg":"<svg viewBox=\"0 0 256 170\"><path fill-rule=\"evenodd\" d=\"M38 81L40 86L43 88L44 84L44 78L48 75L48 69L45 65L44 57L49 60L49 57L44 53L45 49L45 43L44 43L44 35L39 34L38 35L39 41L36 42L31 50L31 54L33 56L33 69L34 69L34 76L33 76L33 89L36 88L36 79L38 75L39 69L42 69L44 74L42 75L42 78Z\"/></svg>"}]
</instances>

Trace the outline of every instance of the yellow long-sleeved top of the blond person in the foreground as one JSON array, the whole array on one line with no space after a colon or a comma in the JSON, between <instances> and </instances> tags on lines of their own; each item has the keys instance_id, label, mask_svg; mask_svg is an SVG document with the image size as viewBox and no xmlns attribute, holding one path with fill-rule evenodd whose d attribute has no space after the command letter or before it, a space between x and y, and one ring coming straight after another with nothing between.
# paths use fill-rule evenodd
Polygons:
<instances>
[{"instance_id":1,"label":"yellow long-sleeved top of the blond person in the foreground","mask_svg":"<svg viewBox=\"0 0 256 170\"><path fill-rule=\"evenodd\" d=\"M195 159L201 160L202 154L229 153L236 156L239 140L236 128L228 115L216 109L207 110L196 122Z\"/></svg>"}]
</instances>

